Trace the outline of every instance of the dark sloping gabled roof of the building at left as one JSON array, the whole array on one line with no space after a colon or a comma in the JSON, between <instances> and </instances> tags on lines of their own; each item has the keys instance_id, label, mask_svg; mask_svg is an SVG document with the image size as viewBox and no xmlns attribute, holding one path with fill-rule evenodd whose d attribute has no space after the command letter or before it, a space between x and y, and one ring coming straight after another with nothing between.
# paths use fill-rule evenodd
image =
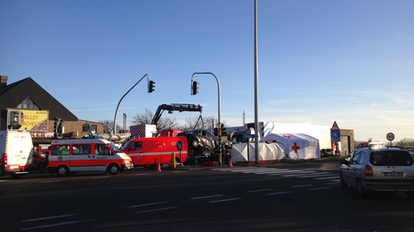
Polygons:
<instances>
[{"instance_id":1,"label":"dark sloping gabled roof of the building at left","mask_svg":"<svg viewBox=\"0 0 414 232\"><path fill-rule=\"evenodd\" d=\"M69 121L78 120L75 114L72 114L30 77L11 83L1 89L0 109L16 108L29 97L41 110L49 111L49 120L53 120L55 117Z\"/></svg>"}]
</instances>

